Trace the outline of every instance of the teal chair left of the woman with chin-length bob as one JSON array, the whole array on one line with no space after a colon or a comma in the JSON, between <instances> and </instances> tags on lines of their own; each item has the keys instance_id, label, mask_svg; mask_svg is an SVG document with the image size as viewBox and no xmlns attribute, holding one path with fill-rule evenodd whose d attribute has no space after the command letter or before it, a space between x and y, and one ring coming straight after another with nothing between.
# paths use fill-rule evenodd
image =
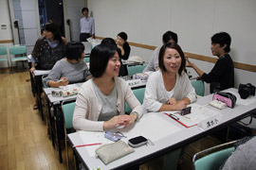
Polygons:
<instances>
[{"instance_id":1,"label":"teal chair left of the woman with chin-length bob","mask_svg":"<svg viewBox=\"0 0 256 170\"><path fill-rule=\"evenodd\" d=\"M64 100L62 103L62 110L64 113L64 144L65 144L65 153L66 153L66 164L68 169L68 147L67 147L67 138L66 138L66 129L73 128L73 113L75 110L76 102L72 100Z\"/></svg>"}]
</instances>

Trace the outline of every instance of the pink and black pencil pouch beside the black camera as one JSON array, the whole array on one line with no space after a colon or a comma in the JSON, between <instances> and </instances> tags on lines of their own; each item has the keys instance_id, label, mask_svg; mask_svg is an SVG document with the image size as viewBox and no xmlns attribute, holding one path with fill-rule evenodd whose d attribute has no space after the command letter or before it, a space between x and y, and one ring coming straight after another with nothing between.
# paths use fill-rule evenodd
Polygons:
<instances>
[{"instance_id":1,"label":"pink and black pencil pouch beside the black camera","mask_svg":"<svg viewBox=\"0 0 256 170\"><path fill-rule=\"evenodd\" d=\"M229 108L234 108L236 103L236 96L232 93L214 93L212 99L225 103Z\"/></svg>"}]
</instances>

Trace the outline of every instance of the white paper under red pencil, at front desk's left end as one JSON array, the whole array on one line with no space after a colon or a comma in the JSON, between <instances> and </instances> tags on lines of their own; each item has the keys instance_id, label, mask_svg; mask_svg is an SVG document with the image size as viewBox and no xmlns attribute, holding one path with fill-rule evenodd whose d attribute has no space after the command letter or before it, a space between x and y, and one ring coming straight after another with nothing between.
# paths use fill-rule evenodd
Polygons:
<instances>
[{"instance_id":1,"label":"white paper under red pencil, at front desk's left end","mask_svg":"<svg viewBox=\"0 0 256 170\"><path fill-rule=\"evenodd\" d=\"M95 150L103 144L111 144L112 141L104 138L105 132L92 132L92 131L79 131L80 137L82 139L82 144L96 144L101 143L98 145L90 145L84 146L86 148L90 157L95 156ZM78 144L80 145L80 144Z\"/></svg>"}]
</instances>

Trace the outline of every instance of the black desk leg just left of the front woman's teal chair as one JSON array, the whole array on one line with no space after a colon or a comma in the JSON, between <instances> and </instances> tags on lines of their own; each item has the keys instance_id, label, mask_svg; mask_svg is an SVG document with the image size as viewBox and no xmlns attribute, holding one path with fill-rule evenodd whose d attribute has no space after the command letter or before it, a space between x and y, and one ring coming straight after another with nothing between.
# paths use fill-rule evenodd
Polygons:
<instances>
[{"instance_id":1,"label":"black desk leg just left of the front woman's teal chair","mask_svg":"<svg viewBox=\"0 0 256 170\"><path fill-rule=\"evenodd\" d=\"M60 128L61 122L62 122L62 115L60 114L59 105L53 105L54 108L54 119L55 119L55 127L56 127L56 136L57 136L57 143L58 143L58 149L59 149L59 159L60 162L63 163L63 155L62 155L62 146L61 146L61 133L62 129ZM62 126L63 127L63 126Z\"/></svg>"}]
</instances>

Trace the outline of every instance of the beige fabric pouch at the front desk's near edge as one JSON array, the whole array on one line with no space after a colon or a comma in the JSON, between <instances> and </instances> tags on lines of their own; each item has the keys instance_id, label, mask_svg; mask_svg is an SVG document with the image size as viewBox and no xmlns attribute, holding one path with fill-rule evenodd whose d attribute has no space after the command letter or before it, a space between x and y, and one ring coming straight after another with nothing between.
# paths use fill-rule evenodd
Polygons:
<instances>
[{"instance_id":1,"label":"beige fabric pouch at the front desk's near edge","mask_svg":"<svg viewBox=\"0 0 256 170\"><path fill-rule=\"evenodd\" d=\"M101 161L104 162L104 164L108 164L134 151L135 150L131 146L119 140L118 142L113 144L101 145L101 147L96 149L95 152L97 156L101 159Z\"/></svg>"}]
</instances>

